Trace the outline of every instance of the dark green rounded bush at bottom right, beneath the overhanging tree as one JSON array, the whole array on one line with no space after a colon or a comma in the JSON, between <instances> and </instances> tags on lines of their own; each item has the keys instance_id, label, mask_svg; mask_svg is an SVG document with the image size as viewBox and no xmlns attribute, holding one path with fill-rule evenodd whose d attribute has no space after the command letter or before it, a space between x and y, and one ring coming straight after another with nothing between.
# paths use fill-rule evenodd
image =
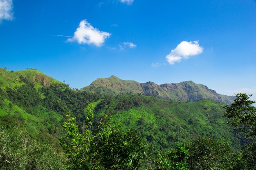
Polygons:
<instances>
[{"instance_id":1,"label":"dark green rounded bush at bottom right, beneath the overhanging tree","mask_svg":"<svg viewBox=\"0 0 256 170\"><path fill-rule=\"evenodd\" d=\"M200 137L188 144L189 170L246 170L243 155L233 153L225 141Z\"/></svg>"}]
</instances>

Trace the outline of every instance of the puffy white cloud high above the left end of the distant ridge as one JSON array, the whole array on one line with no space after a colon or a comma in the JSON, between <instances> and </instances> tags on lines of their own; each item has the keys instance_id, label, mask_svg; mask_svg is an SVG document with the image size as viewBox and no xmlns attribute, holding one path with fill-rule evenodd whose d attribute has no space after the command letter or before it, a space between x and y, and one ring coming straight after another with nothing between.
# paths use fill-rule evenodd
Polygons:
<instances>
[{"instance_id":1,"label":"puffy white cloud high above the left end of the distant ridge","mask_svg":"<svg viewBox=\"0 0 256 170\"><path fill-rule=\"evenodd\" d=\"M99 31L94 28L87 20L82 20L79 27L74 32L72 38L67 39L68 42L78 42L79 44L94 44L102 46L106 38L110 37L110 33Z\"/></svg>"}]
</instances>

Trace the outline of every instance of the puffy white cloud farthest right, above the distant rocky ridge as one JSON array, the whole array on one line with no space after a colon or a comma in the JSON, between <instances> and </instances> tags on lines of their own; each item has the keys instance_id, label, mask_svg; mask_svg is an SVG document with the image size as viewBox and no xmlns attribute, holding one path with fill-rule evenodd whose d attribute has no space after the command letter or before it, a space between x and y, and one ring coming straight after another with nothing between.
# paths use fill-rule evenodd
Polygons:
<instances>
[{"instance_id":1,"label":"puffy white cloud farthest right, above the distant rocky ridge","mask_svg":"<svg viewBox=\"0 0 256 170\"><path fill-rule=\"evenodd\" d=\"M203 47L198 44L198 41L182 41L165 58L169 64L175 64L175 62L180 62L182 59L188 59L190 56L198 55L202 52Z\"/></svg>"}]
</instances>

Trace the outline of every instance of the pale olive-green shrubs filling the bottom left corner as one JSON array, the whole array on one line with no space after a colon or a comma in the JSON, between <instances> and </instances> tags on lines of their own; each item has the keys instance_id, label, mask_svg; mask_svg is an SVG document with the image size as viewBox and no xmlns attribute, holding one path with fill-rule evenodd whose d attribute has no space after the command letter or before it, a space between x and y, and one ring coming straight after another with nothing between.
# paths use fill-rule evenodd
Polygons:
<instances>
[{"instance_id":1,"label":"pale olive-green shrubs filling the bottom left corner","mask_svg":"<svg viewBox=\"0 0 256 170\"><path fill-rule=\"evenodd\" d=\"M25 130L0 125L0 170L62 170L64 155Z\"/></svg>"}]
</instances>

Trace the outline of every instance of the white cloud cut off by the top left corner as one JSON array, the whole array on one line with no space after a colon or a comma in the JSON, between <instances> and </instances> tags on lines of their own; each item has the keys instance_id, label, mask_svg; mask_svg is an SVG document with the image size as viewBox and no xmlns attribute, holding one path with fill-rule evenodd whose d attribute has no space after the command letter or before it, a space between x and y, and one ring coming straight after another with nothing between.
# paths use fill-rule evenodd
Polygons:
<instances>
[{"instance_id":1,"label":"white cloud cut off by the top left corner","mask_svg":"<svg viewBox=\"0 0 256 170\"><path fill-rule=\"evenodd\" d=\"M12 0L0 0L0 22L13 20Z\"/></svg>"}]
</instances>

